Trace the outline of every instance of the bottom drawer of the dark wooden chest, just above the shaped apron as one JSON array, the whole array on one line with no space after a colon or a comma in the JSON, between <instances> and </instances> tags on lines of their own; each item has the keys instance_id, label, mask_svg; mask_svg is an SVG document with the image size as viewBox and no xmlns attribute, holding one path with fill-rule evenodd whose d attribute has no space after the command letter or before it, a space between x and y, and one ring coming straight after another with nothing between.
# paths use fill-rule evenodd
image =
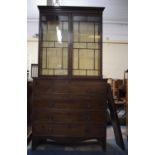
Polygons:
<instances>
[{"instance_id":1,"label":"bottom drawer of the dark wooden chest, just above the shaped apron","mask_svg":"<svg viewBox=\"0 0 155 155\"><path fill-rule=\"evenodd\" d=\"M105 126L86 126L81 124L45 124L33 125L34 136L54 137L102 137L105 136Z\"/></svg>"}]
</instances>

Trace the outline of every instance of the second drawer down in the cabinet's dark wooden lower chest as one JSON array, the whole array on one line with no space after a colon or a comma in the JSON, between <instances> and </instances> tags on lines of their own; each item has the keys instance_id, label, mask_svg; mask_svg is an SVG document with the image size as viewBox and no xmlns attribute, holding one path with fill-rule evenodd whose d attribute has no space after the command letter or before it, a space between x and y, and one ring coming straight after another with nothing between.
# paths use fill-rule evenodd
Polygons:
<instances>
[{"instance_id":1,"label":"second drawer down in the cabinet's dark wooden lower chest","mask_svg":"<svg viewBox=\"0 0 155 155\"><path fill-rule=\"evenodd\" d=\"M97 97L79 97L75 98L55 95L33 97L33 107L38 108L58 108L58 109L104 109L106 108L106 100Z\"/></svg>"}]
</instances>

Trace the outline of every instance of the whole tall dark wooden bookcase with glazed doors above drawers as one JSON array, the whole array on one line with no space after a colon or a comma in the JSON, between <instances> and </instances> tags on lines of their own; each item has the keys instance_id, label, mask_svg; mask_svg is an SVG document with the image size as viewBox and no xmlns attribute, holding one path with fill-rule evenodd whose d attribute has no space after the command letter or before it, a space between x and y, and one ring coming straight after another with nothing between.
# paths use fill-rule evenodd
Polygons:
<instances>
[{"instance_id":1,"label":"whole tall dark wooden bookcase with glazed doors above drawers","mask_svg":"<svg viewBox=\"0 0 155 155\"><path fill-rule=\"evenodd\" d=\"M38 6L39 76L33 82L32 147L41 140L106 145L100 7Z\"/></svg>"}]
</instances>

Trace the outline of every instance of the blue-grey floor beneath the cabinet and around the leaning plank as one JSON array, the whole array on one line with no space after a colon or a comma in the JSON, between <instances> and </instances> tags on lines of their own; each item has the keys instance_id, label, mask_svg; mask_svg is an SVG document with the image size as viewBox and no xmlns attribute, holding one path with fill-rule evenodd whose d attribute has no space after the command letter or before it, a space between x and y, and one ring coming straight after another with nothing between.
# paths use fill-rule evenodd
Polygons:
<instances>
[{"instance_id":1,"label":"blue-grey floor beneath the cabinet and around the leaning plank","mask_svg":"<svg viewBox=\"0 0 155 155\"><path fill-rule=\"evenodd\" d=\"M85 144L77 146L52 145L50 143L41 144L36 150L31 149L32 142L28 145L27 155L127 155L128 142L126 128L121 127L125 143L125 151L121 150L115 143L113 128L107 127L107 150L103 152L99 144Z\"/></svg>"}]
</instances>

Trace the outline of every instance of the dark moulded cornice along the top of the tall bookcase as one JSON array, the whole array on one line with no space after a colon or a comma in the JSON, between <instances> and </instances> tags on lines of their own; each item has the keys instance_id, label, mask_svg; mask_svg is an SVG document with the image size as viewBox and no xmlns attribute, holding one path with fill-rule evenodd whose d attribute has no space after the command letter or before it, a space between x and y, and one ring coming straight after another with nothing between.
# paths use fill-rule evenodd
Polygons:
<instances>
[{"instance_id":1,"label":"dark moulded cornice along the top of the tall bookcase","mask_svg":"<svg viewBox=\"0 0 155 155\"><path fill-rule=\"evenodd\" d=\"M89 13L102 13L105 7L81 7L81 6L38 6L41 13L46 12L89 12Z\"/></svg>"}]
</instances>

